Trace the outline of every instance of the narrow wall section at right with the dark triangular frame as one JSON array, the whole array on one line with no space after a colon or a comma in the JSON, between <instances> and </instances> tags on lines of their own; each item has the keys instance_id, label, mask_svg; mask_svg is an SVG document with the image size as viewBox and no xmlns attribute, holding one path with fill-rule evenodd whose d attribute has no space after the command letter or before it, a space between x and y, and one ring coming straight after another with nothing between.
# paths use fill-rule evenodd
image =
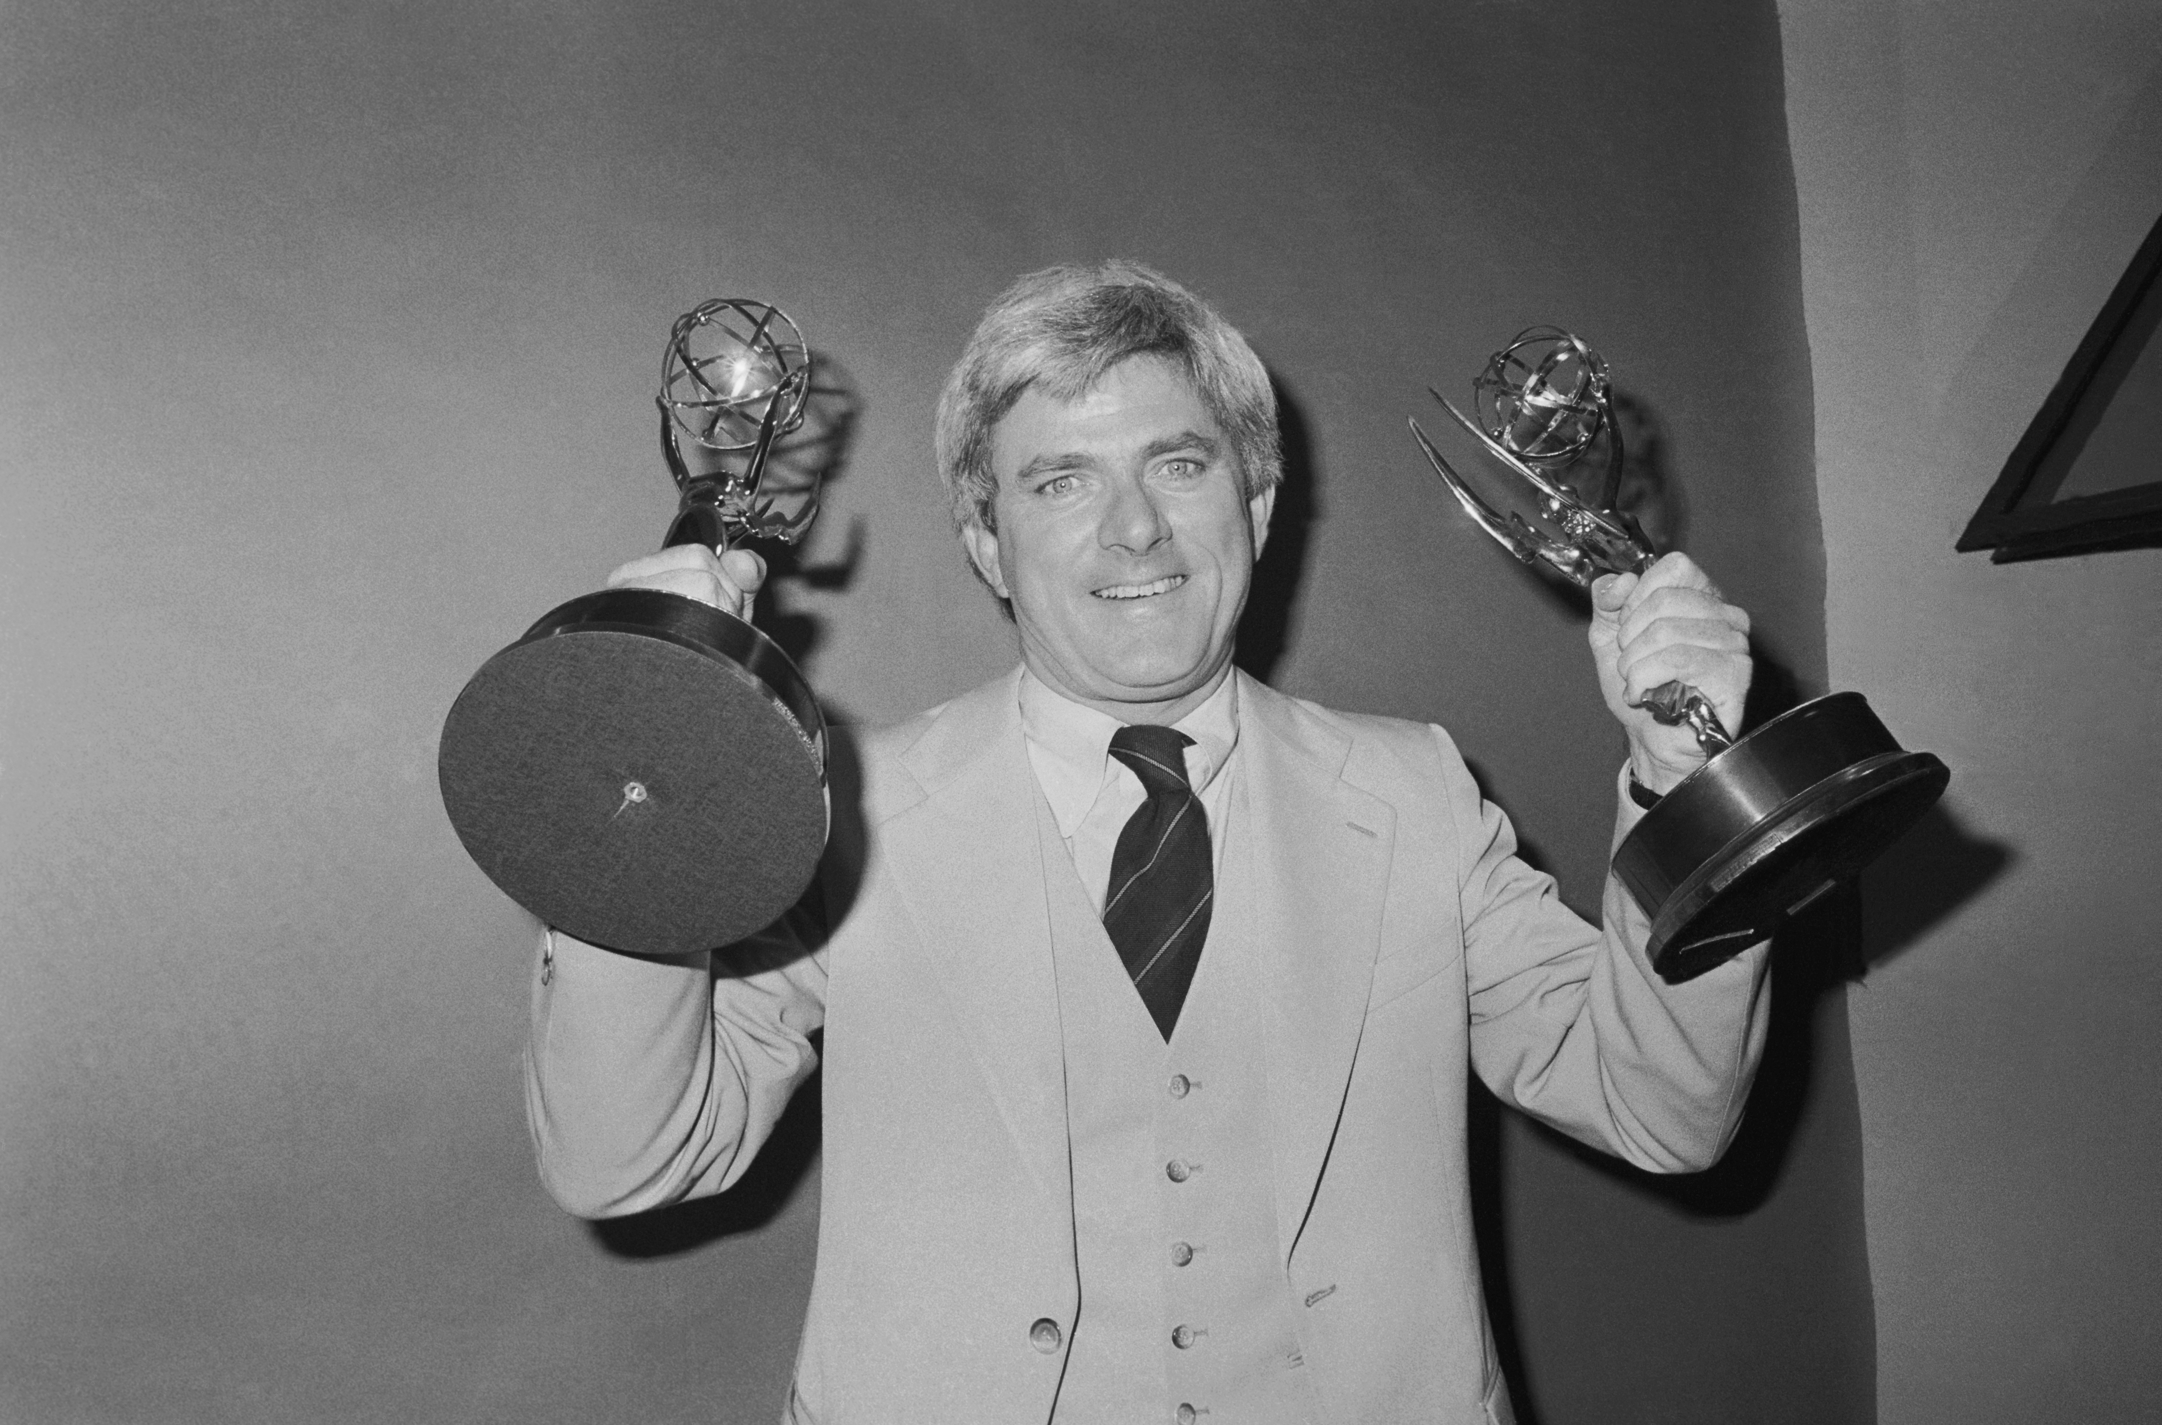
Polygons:
<instances>
[{"instance_id":1,"label":"narrow wall section at right with the dark triangular frame","mask_svg":"<svg viewBox=\"0 0 2162 1425\"><path fill-rule=\"evenodd\" d=\"M1952 541L2162 214L2162 11L1781 22L1831 677L1954 768L1851 1001L1881 1419L2153 1419L2162 551Z\"/></svg>"}]
</instances>

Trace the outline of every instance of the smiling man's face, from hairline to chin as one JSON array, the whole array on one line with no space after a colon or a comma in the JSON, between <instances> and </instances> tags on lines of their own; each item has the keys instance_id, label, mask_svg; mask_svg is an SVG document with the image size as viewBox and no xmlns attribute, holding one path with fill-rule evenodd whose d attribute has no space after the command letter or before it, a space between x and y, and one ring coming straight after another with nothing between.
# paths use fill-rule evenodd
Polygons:
<instances>
[{"instance_id":1,"label":"smiling man's face, from hairline to chin","mask_svg":"<svg viewBox=\"0 0 2162 1425\"><path fill-rule=\"evenodd\" d=\"M962 536L1036 677L1122 720L1196 707L1230 666L1276 491L1245 497L1185 372L1131 357L1072 402L1029 389L990 469L999 532Z\"/></svg>"}]
</instances>

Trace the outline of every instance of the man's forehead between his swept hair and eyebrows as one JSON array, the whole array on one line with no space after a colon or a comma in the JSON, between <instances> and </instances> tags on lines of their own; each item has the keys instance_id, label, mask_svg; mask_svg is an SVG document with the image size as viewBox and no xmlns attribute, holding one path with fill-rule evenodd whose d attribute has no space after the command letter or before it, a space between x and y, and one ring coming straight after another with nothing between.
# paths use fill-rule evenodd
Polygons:
<instances>
[{"instance_id":1,"label":"man's forehead between his swept hair and eyebrows","mask_svg":"<svg viewBox=\"0 0 2162 1425\"><path fill-rule=\"evenodd\" d=\"M1224 439L1180 365L1163 357L1126 357L1072 400L1036 385L1023 391L990 428L990 465L1010 476L1031 461L1118 458L1183 435Z\"/></svg>"}]
</instances>

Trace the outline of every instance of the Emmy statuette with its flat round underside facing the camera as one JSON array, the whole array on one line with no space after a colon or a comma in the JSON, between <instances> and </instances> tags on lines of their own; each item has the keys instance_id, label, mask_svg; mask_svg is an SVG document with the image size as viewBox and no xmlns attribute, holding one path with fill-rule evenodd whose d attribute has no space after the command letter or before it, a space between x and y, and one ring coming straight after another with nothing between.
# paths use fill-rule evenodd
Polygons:
<instances>
[{"instance_id":1,"label":"Emmy statuette with its flat round underside facing the camera","mask_svg":"<svg viewBox=\"0 0 2162 1425\"><path fill-rule=\"evenodd\" d=\"M664 547L796 543L817 480L776 480L811 350L776 307L718 298L662 357ZM711 949L804 893L826 845L826 720L796 664L694 599L571 599L491 657L443 722L450 822L545 923L631 954Z\"/></svg>"}]
</instances>

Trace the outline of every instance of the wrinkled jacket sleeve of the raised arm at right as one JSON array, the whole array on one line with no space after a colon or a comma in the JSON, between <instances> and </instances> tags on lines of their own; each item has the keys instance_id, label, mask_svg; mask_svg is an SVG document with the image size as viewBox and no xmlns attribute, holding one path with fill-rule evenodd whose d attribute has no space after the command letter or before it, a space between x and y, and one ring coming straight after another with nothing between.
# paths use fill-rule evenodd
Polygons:
<instances>
[{"instance_id":1,"label":"wrinkled jacket sleeve of the raised arm at right","mask_svg":"<svg viewBox=\"0 0 2162 1425\"><path fill-rule=\"evenodd\" d=\"M1652 1172L1697 1172L1725 1153L1764 1049L1766 945L1665 984L1650 921L1613 876L1602 925L1561 904L1516 856L1516 833L1479 796L1446 733L1472 1068L1507 1103ZM1626 776L1626 770L1624 770ZM1615 843L1643 815L1617 785Z\"/></svg>"}]
</instances>

